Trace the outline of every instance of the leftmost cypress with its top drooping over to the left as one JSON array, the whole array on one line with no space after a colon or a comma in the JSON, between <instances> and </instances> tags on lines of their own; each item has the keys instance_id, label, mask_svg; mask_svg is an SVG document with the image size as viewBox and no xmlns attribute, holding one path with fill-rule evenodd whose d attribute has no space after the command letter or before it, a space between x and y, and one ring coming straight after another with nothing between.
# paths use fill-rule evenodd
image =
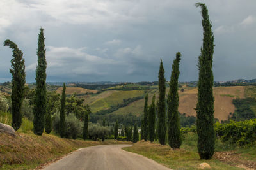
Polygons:
<instances>
[{"instance_id":1,"label":"leftmost cypress with its top drooping over to the left","mask_svg":"<svg viewBox=\"0 0 256 170\"><path fill-rule=\"evenodd\" d=\"M22 123L22 114L20 113L20 108L22 101L24 99L24 88L26 82L25 74L25 60L23 59L23 53L19 50L18 46L6 39L4 41L4 46L9 46L12 48L13 59L11 60L12 68L10 73L12 74L12 127L17 131Z\"/></svg>"}]
</instances>

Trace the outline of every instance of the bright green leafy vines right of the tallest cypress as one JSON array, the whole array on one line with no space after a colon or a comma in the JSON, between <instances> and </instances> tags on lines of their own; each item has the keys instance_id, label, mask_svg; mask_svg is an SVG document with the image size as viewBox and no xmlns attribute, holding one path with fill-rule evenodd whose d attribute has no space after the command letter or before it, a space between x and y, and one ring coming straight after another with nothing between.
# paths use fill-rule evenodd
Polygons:
<instances>
[{"instance_id":1,"label":"bright green leafy vines right of the tallest cypress","mask_svg":"<svg viewBox=\"0 0 256 170\"><path fill-rule=\"evenodd\" d=\"M214 125L216 136L220 137L221 141L230 144L254 145L256 141L256 119L236 122L230 120L229 123Z\"/></svg>"}]
</instances>

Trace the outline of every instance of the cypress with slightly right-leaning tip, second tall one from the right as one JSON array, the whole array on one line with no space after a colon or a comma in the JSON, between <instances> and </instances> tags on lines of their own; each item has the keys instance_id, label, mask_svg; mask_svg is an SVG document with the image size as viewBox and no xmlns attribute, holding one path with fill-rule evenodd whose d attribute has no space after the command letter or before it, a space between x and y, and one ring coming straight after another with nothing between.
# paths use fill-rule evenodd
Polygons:
<instances>
[{"instance_id":1,"label":"cypress with slightly right-leaning tip, second tall one from the right","mask_svg":"<svg viewBox=\"0 0 256 170\"><path fill-rule=\"evenodd\" d=\"M167 99L168 104L168 143L175 149L180 148L182 139L180 136L180 117L179 117L179 93L178 93L178 80L179 80L179 63L181 59L180 52L176 53L176 59L173 60L172 74L170 78L170 89Z\"/></svg>"}]
</instances>

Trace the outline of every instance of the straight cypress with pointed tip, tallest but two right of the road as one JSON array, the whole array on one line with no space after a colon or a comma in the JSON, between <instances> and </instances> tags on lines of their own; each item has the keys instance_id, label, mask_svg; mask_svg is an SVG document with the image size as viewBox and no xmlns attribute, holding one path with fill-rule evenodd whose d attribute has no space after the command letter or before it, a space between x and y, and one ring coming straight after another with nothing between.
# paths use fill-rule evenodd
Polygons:
<instances>
[{"instance_id":1,"label":"straight cypress with pointed tip, tallest but two right of the road","mask_svg":"<svg viewBox=\"0 0 256 170\"><path fill-rule=\"evenodd\" d=\"M158 73L158 87L159 87L159 99L157 103L157 138L161 145L165 145L166 136L166 122L165 122L165 78L164 78L164 66L161 60L159 73Z\"/></svg>"}]
</instances>

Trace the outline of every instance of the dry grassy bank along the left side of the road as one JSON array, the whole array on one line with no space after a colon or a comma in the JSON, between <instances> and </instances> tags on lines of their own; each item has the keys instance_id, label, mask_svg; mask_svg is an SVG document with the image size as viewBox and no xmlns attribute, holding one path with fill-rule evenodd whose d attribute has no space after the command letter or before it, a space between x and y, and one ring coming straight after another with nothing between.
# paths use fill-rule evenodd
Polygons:
<instances>
[{"instance_id":1,"label":"dry grassy bank along the left side of the road","mask_svg":"<svg viewBox=\"0 0 256 170\"><path fill-rule=\"evenodd\" d=\"M51 134L0 134L0 169L31 169L77 148L122 144L121 141L82 141L63 139Z\"/></svg>"}]
</instances>

